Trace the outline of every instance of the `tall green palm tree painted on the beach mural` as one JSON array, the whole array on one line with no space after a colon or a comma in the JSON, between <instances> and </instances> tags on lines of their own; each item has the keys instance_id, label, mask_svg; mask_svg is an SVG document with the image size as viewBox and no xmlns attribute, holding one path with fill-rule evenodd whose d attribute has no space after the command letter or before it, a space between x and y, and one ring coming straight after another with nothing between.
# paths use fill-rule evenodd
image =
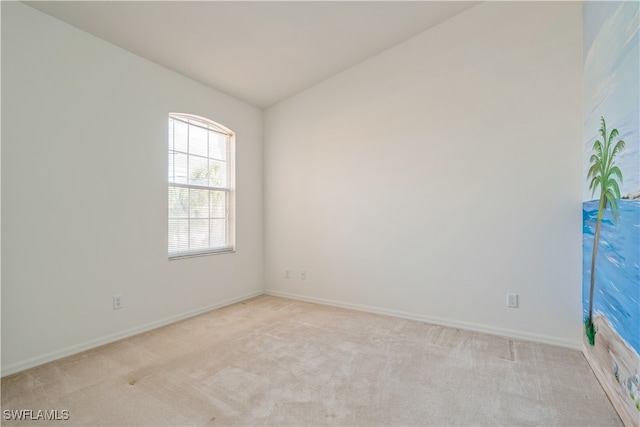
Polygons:
<instances>
[{"instance_id":1,"label":"tall green palm tree painted on the beach mural","mask_svg":"<svg viewBox=\"0 0 640 427\"><path fill-rule=\"evenodd\" d=\"M618 221L618 199L620 199L620 185L622 183L622 172L615 165L615 157L624 149L625 143L619 139L614 145L614 140L618 137L618 130L613 129L607 135L607 124L604 117L600 118L600 136L602 141L597 139L593 143L593 154L589 159L591 167L587 173L589 189L591 194L595 194L600 189L600 203L598 205L598 217L596 220L596 231L593 237L593 256L591 257L591 287L589 289L589 317L585 320L585 331L589 343L594 345L596 330L593 325L593 290L595 287L596 257L598 256L598 244L600 242L600 227L602 224L602 213L609 206L613 213L614 223Z\"/></svg>"}]
</instances>

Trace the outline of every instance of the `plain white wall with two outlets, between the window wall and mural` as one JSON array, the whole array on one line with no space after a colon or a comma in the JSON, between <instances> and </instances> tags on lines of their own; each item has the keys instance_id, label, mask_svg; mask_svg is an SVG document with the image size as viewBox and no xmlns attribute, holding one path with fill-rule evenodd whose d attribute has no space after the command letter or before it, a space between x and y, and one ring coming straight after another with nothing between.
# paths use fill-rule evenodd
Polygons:
<instances>
[{"instance_id":1,"label":"plain white wall with two outlets, between the window wall and mural","mask_svg":"<svg viewBox=\"0 0 640 427\"><path fill-rule=\"evenodd\" d=\"M482 3L269 108L267 291L579 347L581 25Z\"/></svg>"}]
</instances>

